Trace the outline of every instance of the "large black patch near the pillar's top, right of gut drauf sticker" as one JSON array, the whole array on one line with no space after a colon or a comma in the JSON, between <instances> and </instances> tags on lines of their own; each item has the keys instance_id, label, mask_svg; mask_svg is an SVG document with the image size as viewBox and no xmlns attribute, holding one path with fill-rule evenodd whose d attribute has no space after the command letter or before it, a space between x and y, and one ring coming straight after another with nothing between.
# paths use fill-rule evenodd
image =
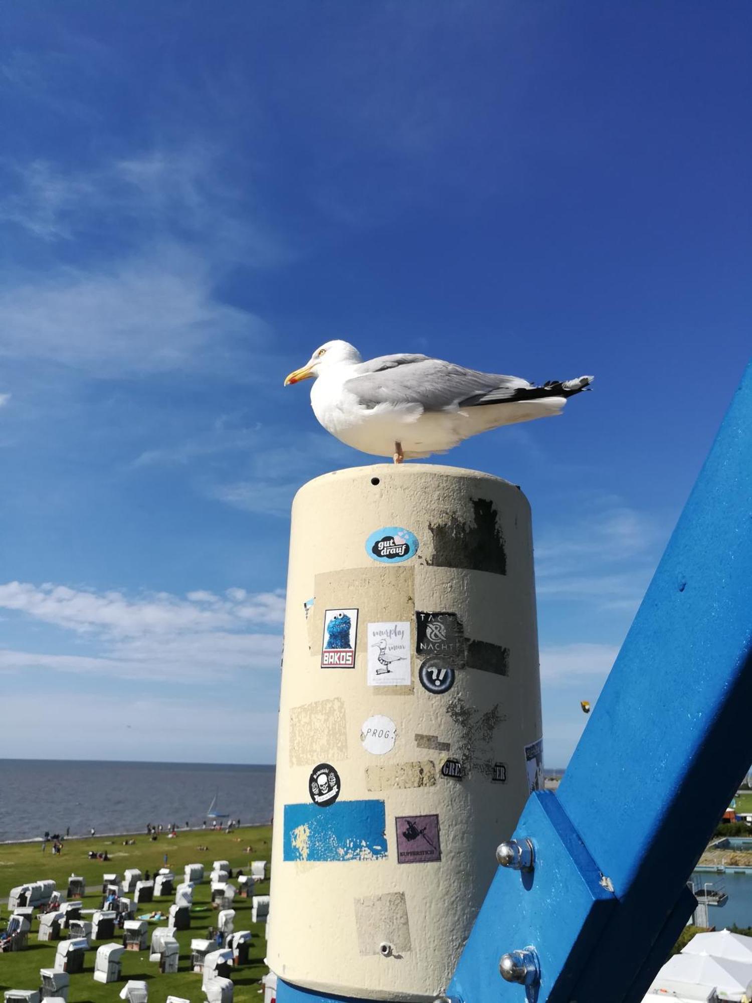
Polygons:
<instances>
[{"instance_id":1,"label":"large black patch near the pillar's top, right of gut drauf sticker","mask_svg":"<svg viewBox=\"0 0 752 1003\"><path fill-rule=\"evenodd\" d=\"M440 526L428 524L433 537L433 557L426 564L505 575L506 550L498 513L487 498L471 498L471 501L472 523L462 523L452 516Z\"/></svg>"}]
</instances>

